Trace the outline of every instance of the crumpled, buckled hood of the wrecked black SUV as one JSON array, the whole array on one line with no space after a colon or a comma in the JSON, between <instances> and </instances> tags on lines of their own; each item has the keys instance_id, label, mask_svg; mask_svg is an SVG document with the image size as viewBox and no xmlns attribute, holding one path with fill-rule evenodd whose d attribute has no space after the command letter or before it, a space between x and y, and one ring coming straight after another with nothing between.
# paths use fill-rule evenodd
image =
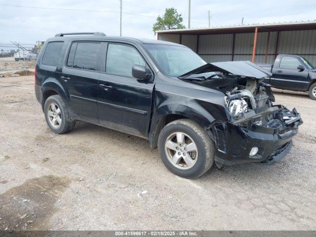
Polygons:
<instances>
[{"instance_id":1,"label":"crumpled, buckled hood of the wrecked black SUV","mask_svg":"<svg viewBox=\"0 0 316 237\"><path fill-rule=\"evenodd\" d=\"M233 61L233 62L217 62L207 63L197 69L179 76L179 79L184 79L194 74L208 73L208 72L221 72L225 74L234 74L237 76L250 77L263 79L271 77L272 73L257 66L250 61Z\"/></svg>"}]
</instances>

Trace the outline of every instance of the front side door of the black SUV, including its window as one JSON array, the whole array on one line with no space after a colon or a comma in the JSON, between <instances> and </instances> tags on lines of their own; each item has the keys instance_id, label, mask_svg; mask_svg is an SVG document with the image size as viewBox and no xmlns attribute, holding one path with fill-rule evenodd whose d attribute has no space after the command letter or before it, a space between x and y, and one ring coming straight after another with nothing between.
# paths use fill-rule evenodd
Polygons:
<instances>
[{"instance_id":1,"label":"front side door of the black SUV, including its window","mask_svg":"<svg viewBox=\"0 0 316 237\"><path fill-rule=\"evenodd\" d=\"M154 81L132 76L132 67L146 65L146 61L133 45L108 43L106 51L98 86L100 124L147 138Z\"/></svg>"}]
</instances>

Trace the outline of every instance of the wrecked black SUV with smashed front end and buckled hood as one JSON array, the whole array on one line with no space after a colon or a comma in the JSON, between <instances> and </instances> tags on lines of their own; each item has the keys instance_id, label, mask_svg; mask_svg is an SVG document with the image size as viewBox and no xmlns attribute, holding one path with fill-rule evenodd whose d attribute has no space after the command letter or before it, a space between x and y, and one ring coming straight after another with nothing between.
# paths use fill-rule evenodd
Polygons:
<instances>
[{"instance_id":1,"label":"wrecked black SUV with smashed front end and buckled hood","mask_svg":"<svg viewBox=\"0 0 316 237\"><path fill-rule=\"evenodd\" d=\"M53 132L81 120L143 137L170 171L196 178L214 161L271 164L289 153L302 120L272 104L270 76L166 41L58 34L38 56L35 92Z\"/></svg>"}]
</instances>

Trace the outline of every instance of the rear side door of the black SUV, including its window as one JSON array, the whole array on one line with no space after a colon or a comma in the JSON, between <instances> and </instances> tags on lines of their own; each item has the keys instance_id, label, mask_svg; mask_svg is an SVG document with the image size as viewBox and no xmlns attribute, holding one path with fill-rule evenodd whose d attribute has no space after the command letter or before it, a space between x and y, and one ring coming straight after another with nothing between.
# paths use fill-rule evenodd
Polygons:
<instances>
[{"instance_id":1,"label":"rear side door of the black SUV, including its window","mask_svg":"<svg viewBox=\"0 0 316 237\"><path fill-rule=\"evenodd\" d=\"M62 79L70 96L69 105L77 119L99 124L98 78L101 42L74 41L70 45Z\"/></svg>"}]
</instances>

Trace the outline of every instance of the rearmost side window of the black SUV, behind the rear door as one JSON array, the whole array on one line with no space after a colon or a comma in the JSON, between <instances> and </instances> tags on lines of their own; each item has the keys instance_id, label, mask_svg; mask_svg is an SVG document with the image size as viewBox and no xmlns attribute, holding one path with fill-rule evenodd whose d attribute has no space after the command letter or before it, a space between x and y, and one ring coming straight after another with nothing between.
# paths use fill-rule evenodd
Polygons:
<instances>
[{"instance_id":1,"label":"rearmost side window of the black SUV, behind the rear door","mask_svg":"<svg viewBox=\"0 0 316 237\"><path fill-rule=\"evenodd\" d=\"M64 42L49 42L44 52L41 63L47 66L57 67L60 61L61 49Z\"/></svg>"}]
</instances>

